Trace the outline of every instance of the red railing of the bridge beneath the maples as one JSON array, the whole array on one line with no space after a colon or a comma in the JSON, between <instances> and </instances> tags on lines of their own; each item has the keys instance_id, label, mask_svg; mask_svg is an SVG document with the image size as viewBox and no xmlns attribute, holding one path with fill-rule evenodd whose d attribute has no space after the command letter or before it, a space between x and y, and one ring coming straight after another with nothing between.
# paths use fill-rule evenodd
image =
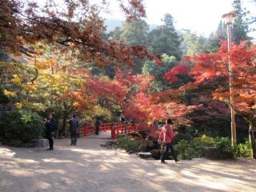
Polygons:
<instances>
[{"instance_id":1,"label":"red railing of the bridge beneath the maples","mask_svg":"<svg viewBox=\"0 0 256 192\"><path fill-rule=\"evenodd\" d=\"M115 139L118 137L118 134L129 133L130 131L138 131L138 130L150 130L156 131L156 126L139 126L133 125L131 123L128 124L114 124L114 123L103 123L101 124L99 130L101 132L111 131L111 138ZM83 129L79 130L80 135L88 136L90 134L95 133L95 126L84 126Z\"/></svg>"}]
</instances>

